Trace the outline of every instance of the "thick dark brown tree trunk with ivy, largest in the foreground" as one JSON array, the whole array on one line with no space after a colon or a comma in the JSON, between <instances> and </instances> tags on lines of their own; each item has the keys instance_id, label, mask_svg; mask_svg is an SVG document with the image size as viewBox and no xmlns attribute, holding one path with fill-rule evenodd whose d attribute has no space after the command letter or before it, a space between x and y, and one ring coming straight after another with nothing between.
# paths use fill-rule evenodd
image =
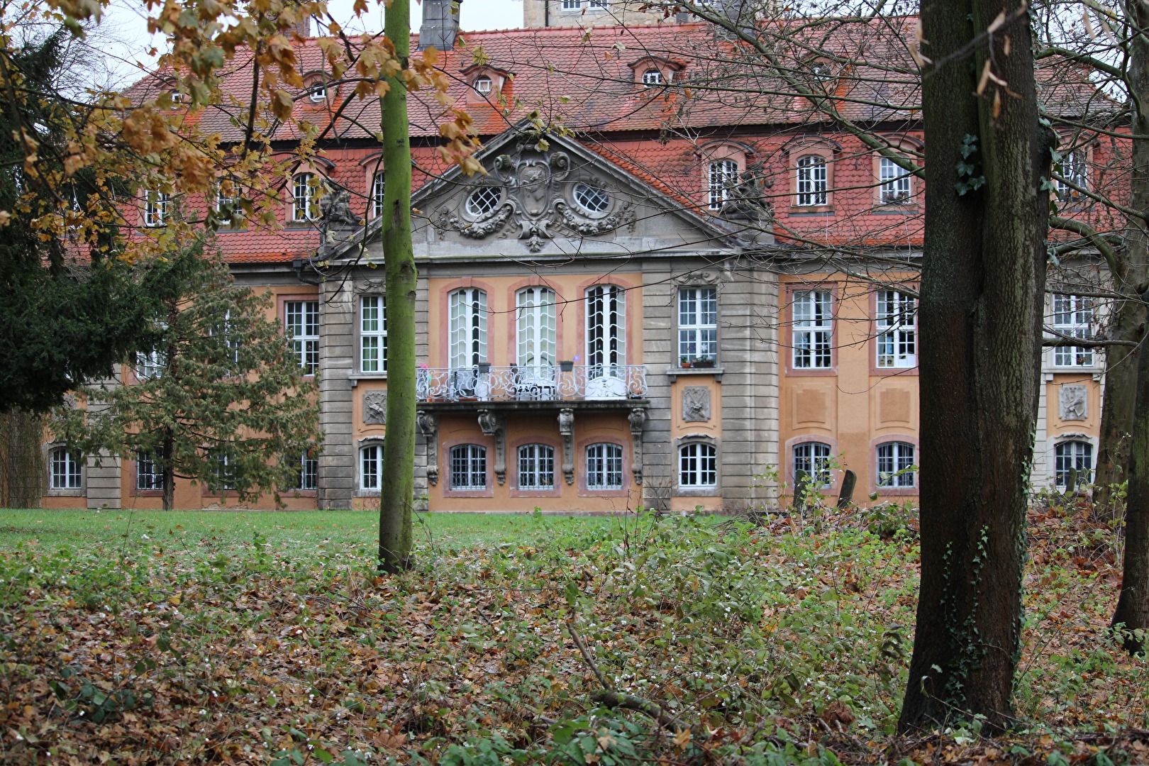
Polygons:
<instances>
[{"instance_id":1,"label":"thick dark brown tree trunk with ivy, largest in the foreground","mask_svg":"<svg viewBox=\"0 0 1149 766\"><path fill-rule=\"evenodd\" d=\"M989 38L992 82L976 95ZM923 2L926 133L921 270L921 586L901 730L1011 719L1020 645L1026 482L1040 380L1052 134L1038 122L1020 0ZM973 40L977 42L971 45ZM972 53L966 53L972 47ZM1011 93L1012 92L1012 93ZM1015 95L1016 94L1016 95ZM996 114L995 114L996 113ZM965 162L985 176L970 188ZM956 185L965 186L959 194Z\"/></svg>"}]
</instances>

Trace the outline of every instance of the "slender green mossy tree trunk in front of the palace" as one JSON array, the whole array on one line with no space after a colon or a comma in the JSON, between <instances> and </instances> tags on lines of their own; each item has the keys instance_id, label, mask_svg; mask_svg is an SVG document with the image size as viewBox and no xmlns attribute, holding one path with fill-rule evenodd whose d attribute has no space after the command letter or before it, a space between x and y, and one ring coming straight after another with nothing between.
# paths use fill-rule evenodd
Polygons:
<instances>
[{"instance_id":1,"label":"slender green mossy tree trunk in front of the palace","mask_svg":"<svg viewBox=\"0 0 1149 766\"><path fill-rule=\"evenodd\" d=\"M410 1L392 0L384 22L406 69L410 56ZM379 565L399 572L411 565L411 501L415 496L415 288L411 250L411 144L407 88L390 78L383 116L383 258L387 280L387 435L379 497Z\"/></svg>"}]
</instances>

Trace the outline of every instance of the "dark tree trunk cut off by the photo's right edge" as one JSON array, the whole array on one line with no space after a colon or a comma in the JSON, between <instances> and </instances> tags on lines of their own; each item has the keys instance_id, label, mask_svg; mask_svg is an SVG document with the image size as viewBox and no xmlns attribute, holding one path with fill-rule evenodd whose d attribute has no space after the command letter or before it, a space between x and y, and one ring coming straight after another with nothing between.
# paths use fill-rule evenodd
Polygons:
<instances>
[{"instance_id":1,"label":"dark tree trunk cut off by the photo's right edge","mask_svg":"<svg viewBox=\"0 0 1149 766\"><path fill-rule=\"evenodd\" d=\"M1149 9L1143 3L1128 3L1134 29L1144 30L1149 24ZM1149 131L1149 40L1144 34L1134 34L1129 55L1129 86L1140 94L1131 99L1133 106L1133 134L1146 136ZM1135 210L1149 210L1149 141L1133 141L1133 172L1131 177L1129 207ZM1135 273L1140 270L1143 279L1146 263L1149 261L1149 242L1147 242L1146 222L1129 217L1126 229L1125 262L1129 273L1124 280L1128 294L1136 295ZM1136 296L1141 297L1141 296ZM1144 305L1136 308L1132 303L1121 307L1123 311L1139 311L1141 323L1146 320ZM1140 325L1139 325L1140 327ZM1141 334L1134 340L1140 340ZM1109 351L1109 357L1123 354L1117 348ZM1131 363L1129 366L1132 366ZM1123 624L1127 630L1149 629L1149 354L1140 354L1136 379L1136 403L1132 424L1133 439L1128 458L1128 497L1125 509L1125 571L1121 579L1121 595L1113 613L1113 624ZM1106 376L1110 374L1106 370ZM1109 378L1105 380L1105 392L1109 392ZM1111 407L1106 400L1102 411L1104 417ZM1102 436L1104 436L1104 431ZM1138 640L1132 633L1125 635L1125 648L1133 652L1144 649L1143 640Z\"/></svg>"}]
</instances>

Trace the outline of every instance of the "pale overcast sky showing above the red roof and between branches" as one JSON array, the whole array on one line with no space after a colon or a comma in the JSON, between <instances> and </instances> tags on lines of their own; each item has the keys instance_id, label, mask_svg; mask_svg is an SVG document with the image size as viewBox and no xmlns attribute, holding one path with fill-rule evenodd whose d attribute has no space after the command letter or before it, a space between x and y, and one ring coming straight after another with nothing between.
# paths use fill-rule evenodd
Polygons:
<instances>
[{"instance_id":1,"label":"pale overcast sky showing above the red roof and between branches","mask_svg":"<svg viewBox=\"0 0 1149 766\"><path fill-rule=\"evenodd\" d=\"M463 0L460 3L458 24L464 30L516 29L523 25L523 2L533 0ZM329 0L327 7L332 15L346 29L355 29L352 24L354 0ZM373 5L373 3L372 3ZM142 0L111 0L108 14L105 16L107 37L100 40L101 49L107 54L109 69L121 73L124 83L134 80L138 75L137 62L145 67L154 59L147 55L153 40L147 33L147 9ZM423 6L411 0L411 29L418 30L423 20ZM364 16L360 26L375 31L383 29L383 6ZM364 24L365 22L365 24Z\"/></svg>"}]
</instances>

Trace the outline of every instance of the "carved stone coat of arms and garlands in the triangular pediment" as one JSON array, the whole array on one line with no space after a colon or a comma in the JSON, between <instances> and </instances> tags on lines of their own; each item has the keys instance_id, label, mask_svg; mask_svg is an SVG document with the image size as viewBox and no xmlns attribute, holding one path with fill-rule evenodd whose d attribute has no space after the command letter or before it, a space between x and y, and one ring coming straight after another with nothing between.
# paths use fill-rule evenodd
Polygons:
<instances>
[{"instance_id":1,"label":"carved stone coat of arms and garlands in the triangular pediment","mask_svg":"<svg viewBox=\"0 0 1149 766\"><path fill-rule=\"evenodd\" d=\"M571 160L565 152L540 150L534 139L518 141L512 154L495 157L491 176L454 203L435 214L440 232L456 231L470 239L486 239L503 226L517 226L517 238L526 241L531 253L538 253L546 240L554 239L553 229L593 237L622 226L634 229L635 215L630 202L606 192L601 211L588 214L573 203L577 179L569 179ZM600 181L587 179L586 186L600 188ZM484 186L498 189L498 202L481 214L468 208L468 200Z\"/></svg>"}]
</instances>

